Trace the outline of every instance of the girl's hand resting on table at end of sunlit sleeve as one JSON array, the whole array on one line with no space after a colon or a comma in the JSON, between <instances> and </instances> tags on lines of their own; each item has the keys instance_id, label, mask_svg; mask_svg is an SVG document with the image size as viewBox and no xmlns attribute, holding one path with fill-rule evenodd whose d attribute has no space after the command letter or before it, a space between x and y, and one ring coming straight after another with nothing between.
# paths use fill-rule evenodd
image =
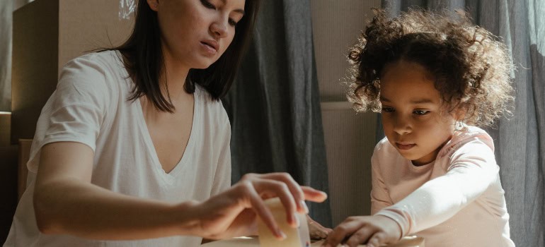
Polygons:
<instances>
[{"instance_id":1,"label":"girl's hand resting on table at end of sunlit sleeve","mask_svg":"<svg viewBox=\"0 0 545 247\"><path fill-rule=\"evenodd\" d=\"M337 246L339 243L357 246L365 243L369 247L379 247L399 239L401 228L394 219L382 215L352 216L335 227L322 246Z\"/></svg>"}]
</instances>

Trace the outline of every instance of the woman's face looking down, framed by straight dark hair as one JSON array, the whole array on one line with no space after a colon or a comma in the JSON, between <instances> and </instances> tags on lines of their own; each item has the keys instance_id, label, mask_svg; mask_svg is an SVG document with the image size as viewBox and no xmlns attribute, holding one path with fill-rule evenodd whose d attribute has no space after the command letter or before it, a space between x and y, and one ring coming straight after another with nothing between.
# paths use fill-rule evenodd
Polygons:
<instances>
[{"instance_id":1,"label":"woman's face looking down, framed by straight dark hair","mask_svg":"<svg viewBox=\"0 0 545 247\"><path fill-rule=\"evenodd\" d=\"M147 0L157 11L165 58L207 68L225 52L244 15L245 0Z\"/></svg>"}]
</instances>

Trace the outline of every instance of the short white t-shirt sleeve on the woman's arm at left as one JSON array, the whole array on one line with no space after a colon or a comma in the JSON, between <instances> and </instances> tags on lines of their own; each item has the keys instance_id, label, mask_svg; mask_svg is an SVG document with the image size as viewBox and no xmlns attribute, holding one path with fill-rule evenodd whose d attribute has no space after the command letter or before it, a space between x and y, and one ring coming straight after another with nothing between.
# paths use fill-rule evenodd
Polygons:
<instances>
[{"instance_id":1,"label":"short white t-shirt sleeve on the woman's arm at left","mask_svg":"<svg viewBox=\"0 0 545 247\"><path fill-rule=\"evenodd\" d=\"M69 61L57 89L43 107L36 125L28 169L38 168L40 149L47 143L73 141L96 149L105 109L110 104L108 70L88 54Z\"/></svg>"}]
</instances>

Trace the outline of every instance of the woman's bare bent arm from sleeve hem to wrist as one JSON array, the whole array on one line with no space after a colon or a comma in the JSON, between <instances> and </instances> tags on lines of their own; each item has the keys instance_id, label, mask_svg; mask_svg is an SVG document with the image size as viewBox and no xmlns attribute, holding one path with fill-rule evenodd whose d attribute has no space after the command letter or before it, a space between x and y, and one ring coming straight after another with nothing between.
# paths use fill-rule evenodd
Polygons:
<instances>
[{"instance_id":1,"label":"woman's bare bent arm from sleeve hem to wrist","mask_svg":"<svg viewBox=\"0 0 545 247\"><path fill-rule=\"evenodd\" d=\"M72 142L42 147L34 208L45 234L86 239L150 239L190 234L193 205L134 198L91 183L93 150Z\"/></svg>"}]
</instances>

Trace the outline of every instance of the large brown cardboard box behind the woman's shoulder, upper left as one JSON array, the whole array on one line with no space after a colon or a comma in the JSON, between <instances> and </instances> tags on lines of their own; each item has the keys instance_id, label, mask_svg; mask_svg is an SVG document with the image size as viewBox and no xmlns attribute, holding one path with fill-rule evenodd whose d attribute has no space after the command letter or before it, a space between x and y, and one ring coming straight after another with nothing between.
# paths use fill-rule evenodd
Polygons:
<instances>
[{"instance_id":1,"label":"large brown cardboard box behind the woman's shoulder, upper left","mask_svg":"<svg viewBox=\"0 0 545 247\"><path fill-rule=\"evenodd\" d=\"M32 139L62 66L93 49L121 44L134 16L117 0L36 0L13 12L11 143Z\"/></svg>"}]
</instances>

